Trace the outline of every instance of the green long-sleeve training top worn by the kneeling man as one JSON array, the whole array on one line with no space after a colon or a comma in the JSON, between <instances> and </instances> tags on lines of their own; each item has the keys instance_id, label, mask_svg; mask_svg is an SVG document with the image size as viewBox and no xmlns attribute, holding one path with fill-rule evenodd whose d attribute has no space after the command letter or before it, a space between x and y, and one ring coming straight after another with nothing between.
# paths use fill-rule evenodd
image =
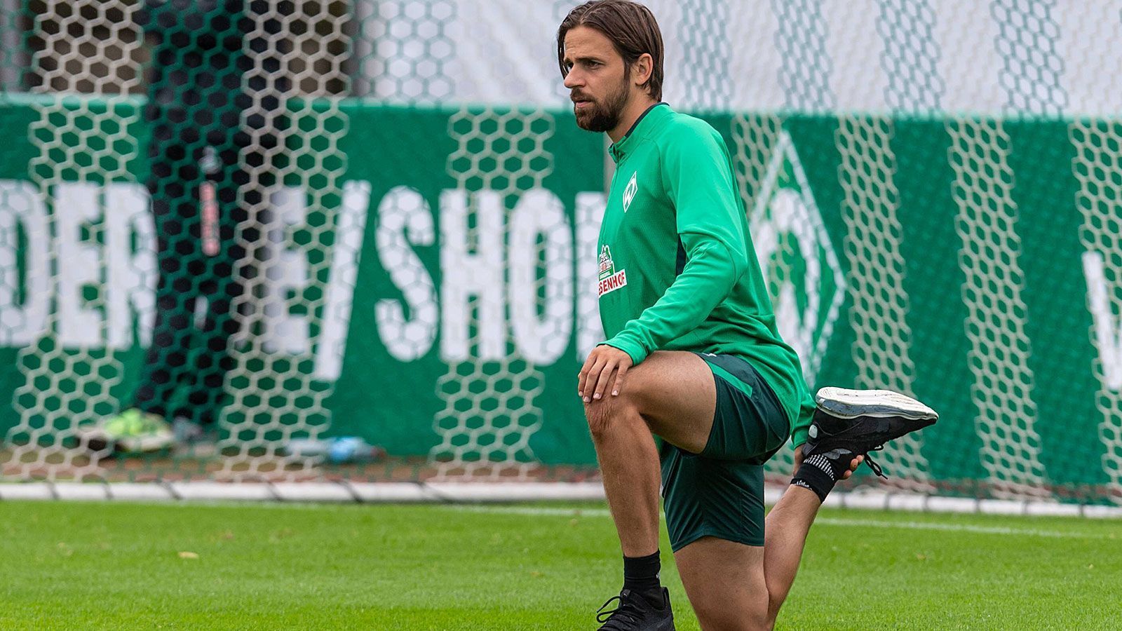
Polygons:
<instances>
[{"instance_id":1,"label":"green long-sleeve training top worn by the kneeling man","mask_svg":"<svg viewBox=\"0 0 1122 631\"><path fill-rule=\"evenodd\" d=\"M792 443L804 442L813 401L775 328L720 135L659 103L608 152L616 172L597 247L605 344L635 364L655 350L742 357L779 397Z\"/></svg>"}]
</instances>

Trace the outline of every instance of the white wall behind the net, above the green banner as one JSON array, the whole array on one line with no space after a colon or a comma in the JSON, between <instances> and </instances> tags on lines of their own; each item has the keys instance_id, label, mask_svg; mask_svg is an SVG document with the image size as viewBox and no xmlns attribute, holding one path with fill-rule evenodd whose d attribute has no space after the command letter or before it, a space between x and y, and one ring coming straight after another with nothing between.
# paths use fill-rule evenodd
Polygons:
<instances>
[{"instance_id":1,"label":"white wall behind the net, above the green banner","mask_svg":"<svg viewBox=\"0 0 1122 631\"><path fill-rule=\"evenodd\" d=\"M570 0L358 0L356 95L564 104ZM1109 113L1122 103L1122 2L647 0L681 109ZM373 56L368 56L373 54ZM1020 90L1018 86L1029 85ZM1010 89L1015 94L1010 94Z\"/></svg>"}]
</instances>

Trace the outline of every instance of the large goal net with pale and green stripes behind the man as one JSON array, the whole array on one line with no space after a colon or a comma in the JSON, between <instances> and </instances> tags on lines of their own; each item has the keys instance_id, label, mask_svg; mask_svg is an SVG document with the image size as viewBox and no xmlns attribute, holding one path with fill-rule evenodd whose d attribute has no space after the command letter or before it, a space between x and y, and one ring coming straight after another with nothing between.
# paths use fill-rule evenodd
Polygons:
<instances>
[{"instance_id":1,"label":"large goal net with pale and green stripes behind the man","mask_svg":"<svg viewBox=\"0 0 1122 631\"><path fill-rule=\"evenodd\" d=\"M577 3L0 0L0 477L595 482ZM1122 2L645 3L856 487L1122 503Z\"/></svg>"}]
</instances>

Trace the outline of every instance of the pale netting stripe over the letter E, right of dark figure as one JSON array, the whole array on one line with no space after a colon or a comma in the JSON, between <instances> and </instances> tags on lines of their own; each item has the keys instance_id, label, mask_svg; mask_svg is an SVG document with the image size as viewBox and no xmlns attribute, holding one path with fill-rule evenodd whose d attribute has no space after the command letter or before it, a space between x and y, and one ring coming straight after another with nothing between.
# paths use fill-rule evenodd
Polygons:
<instances>
[{"instance_id":1,"label":"pale netting stripe over the letter E, right of dark figure","mask_svg":"<svg viewBox=\"0 0 1122 631\"><path fill-rule=\"evenodd\" d=\"M343 2L255 0L245 35L249 70L241 112L248 134L239 166L248 175L238 228L246 278L233 301L243 342L236 345L231 403L222 418L228 456L220 475L234 478L302 475L315 463L282 454L296 437L318 438L331 423L313 349L333 323L328 309L332 235L341 220L347 158L340 140L347 116L348 56ZM342 254L342 253L340 253Z\"/></svg>"}]
</instances>

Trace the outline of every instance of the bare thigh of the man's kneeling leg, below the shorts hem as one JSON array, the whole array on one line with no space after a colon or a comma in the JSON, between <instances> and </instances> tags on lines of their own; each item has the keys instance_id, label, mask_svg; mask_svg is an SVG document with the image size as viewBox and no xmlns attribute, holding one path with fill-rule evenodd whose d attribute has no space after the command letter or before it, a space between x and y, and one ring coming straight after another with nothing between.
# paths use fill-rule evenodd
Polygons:
<instances>
[{"instance_id":1,"label":"bare thigh of the man's kneeling leg, below the shorts hem","mask_svg":"<svg viewBox=\"0 0 1122 631\"><path fill-rule=\"evenodd\" d=\"M767 628L762 546L702 537L674 552L674 563L701 629Z\"/></svg>"}]
</instances>

